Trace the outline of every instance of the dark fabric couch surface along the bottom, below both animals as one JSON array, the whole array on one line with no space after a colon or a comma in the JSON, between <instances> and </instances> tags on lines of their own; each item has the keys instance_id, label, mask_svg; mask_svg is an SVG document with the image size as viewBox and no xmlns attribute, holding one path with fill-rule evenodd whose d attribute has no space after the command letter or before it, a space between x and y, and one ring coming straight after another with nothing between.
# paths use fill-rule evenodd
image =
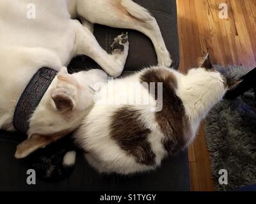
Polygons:
<instances>
[{"instance_id":1,"label":"dark fabric couch surface along the bottom, below both animals","mask_svg":"<svg viewBox=\"0 0 256 204\"><path fill-rule=\"evenodd\" d=\"M156 171L132 177L100 175L78 154L68 179L54 183L37 178L36 185L29 186L28 166L13 156L18 142L9 134L3 135L0 137L0 191L189 191L188 152L166 159Z\"/></svg>"}]
</instances>

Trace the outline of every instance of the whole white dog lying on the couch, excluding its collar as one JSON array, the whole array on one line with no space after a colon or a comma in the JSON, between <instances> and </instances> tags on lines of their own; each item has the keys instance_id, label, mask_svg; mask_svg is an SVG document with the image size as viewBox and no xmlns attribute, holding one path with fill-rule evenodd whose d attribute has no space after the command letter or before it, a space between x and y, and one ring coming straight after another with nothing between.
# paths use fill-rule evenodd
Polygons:
<instances>
[{"instance_id":1,"label":"whole white dog lying on the couch, excluding its collar","mask_svg":"<svg viewBox=\"0 0 256 204\"><path fill-rule=\"evenodd\" d=\"M28 18L29 4L35 6L35 18ZM28 139L17 147L17 158L77 129L93 103L92 85L106 80L99 70L69 75L65 66L72 57L88 55L109 75L122 73L127 35L118 36L107 54L92 34L93 23L141 31L154 43L159 64L172 64L156 20L131 0L0 1L0 129L15 130L15 107L38 69L59 72L29 119Z\"/></svg>"}]
</instances>

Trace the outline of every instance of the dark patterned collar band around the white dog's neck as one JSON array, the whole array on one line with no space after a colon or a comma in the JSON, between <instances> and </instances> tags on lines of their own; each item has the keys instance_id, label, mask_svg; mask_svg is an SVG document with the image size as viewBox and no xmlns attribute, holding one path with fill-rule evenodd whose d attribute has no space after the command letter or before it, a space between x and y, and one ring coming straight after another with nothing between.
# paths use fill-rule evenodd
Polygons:
<instances>
[{"instance_id":1,"label":"dark patterned collar band around the white dog's neck","mask_svg":"<svg viewBox=\"0 0 256 204\"><path fill-rule=\"evenodd\" d=\"M13 126L17 131L25 134L28 132L29 119L56 75L57 71L54 69L40 68L31 78L20 96L13 115Z\"/></svg>"}]
</instances>

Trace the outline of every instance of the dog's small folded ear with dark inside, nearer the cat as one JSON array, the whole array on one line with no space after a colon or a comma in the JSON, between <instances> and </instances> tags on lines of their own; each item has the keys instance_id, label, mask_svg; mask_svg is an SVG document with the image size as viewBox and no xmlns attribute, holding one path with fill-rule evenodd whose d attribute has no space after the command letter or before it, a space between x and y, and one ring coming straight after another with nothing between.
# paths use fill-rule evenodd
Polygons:
<instances>
[{"instance_id":1,"label":"dog's small folded ear with dark inside, nearer the cat","mask_svg":"<svg viewBox=\"0 0 256 204\"><path fill-rule=\"evenodd\" d=\"M73 94L68 94L66 89L60 88L52 92L51 98L55 103L55 106L61 112L66 110L74 110L76 102Z\"/></svg>"}]
</instances>

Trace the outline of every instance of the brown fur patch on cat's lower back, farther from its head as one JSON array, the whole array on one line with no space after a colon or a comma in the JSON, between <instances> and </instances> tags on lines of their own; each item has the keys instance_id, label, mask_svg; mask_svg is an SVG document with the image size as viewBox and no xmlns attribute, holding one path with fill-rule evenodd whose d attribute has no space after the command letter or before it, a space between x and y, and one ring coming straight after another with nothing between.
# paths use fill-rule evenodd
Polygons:
<instances>
[{"instance_id":1,"label":"brown fur patch on cat's lower back, farther from its head","mask_svg":"<svg viewBox=\"0 0 256 204\"><path fill-rule=\"evenodd\" d=\"M129 106L115 112L111 122L111 138L129 155L134 156L136 162L152 166L156 155L148 142L150 129L140 120L140 114Z\"/></svg>"}]
</instances>

